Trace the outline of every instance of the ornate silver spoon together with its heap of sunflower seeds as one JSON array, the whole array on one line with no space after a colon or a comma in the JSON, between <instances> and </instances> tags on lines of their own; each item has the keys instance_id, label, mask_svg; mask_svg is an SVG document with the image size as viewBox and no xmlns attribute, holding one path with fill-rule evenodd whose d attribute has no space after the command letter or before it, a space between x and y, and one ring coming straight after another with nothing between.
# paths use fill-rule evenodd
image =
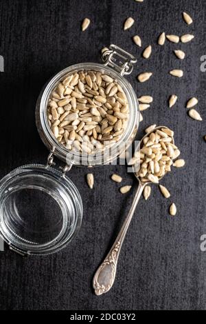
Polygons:
<instances>
[{"instance_id":1,"label":"ornate silver spoon together with its heap of sunflower seeds","mask_svg":"<svg viewBox=\"0 0 206 324\"><path fill-rule=\"evenodd\" d=\"M174 167L183 166L183 160L174 162L181 153L174 144L174 132L172 130L165 126L156 127L156 125L152 125L146 130L146 133L129 163L133 166L133 172L139 181L135 198L115 243L93 278L93 288L97 295L108 292L113 286L119 253L143 190L145 188L150 189L148 185L151 183L159 184L163 176L172 171L172 165ZM163 190L163 186L161 190ZM148 191L146 199L149 195L150 192ZM169 192L165 192L165 196L169 197ZM176 214L174 203L170 206L170 214Z\"/></svg>"}]
</instances>

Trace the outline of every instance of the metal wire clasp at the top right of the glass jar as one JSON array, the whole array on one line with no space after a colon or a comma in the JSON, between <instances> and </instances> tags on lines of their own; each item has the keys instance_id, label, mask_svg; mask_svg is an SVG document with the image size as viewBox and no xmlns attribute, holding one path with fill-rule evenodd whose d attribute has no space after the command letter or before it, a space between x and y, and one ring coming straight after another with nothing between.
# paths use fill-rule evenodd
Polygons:
<instances>
[{"instance_id":1,"label":"metal wire clasp at the top right of the glass jar","mask_svg":"<svg viewBox=\"0 0 206 324\"><path fill-rule=\"evenodd\" d=\"M113 44L102 52L102 61L104 65L115 69L122 76L133 72L133 64L137 63L137 59L132 54Z\"/></svg>"}]
</instances>

